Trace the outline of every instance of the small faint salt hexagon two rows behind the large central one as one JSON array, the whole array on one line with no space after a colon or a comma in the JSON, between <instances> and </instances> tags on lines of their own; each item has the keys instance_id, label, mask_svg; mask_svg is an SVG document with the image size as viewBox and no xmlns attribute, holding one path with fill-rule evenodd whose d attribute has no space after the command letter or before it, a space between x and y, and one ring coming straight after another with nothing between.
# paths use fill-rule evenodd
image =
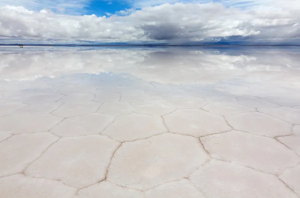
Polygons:
<instances>
[{"instance_id":1,"label":"small faint salt hexagon two rows behind the large central one","mask_svg":"<svg viewBox=\"0 0 300 198\"><path fill-rule=\"evenodd\" d=\"M207 104L205 100L196 97L165 97L162 103L178 109L198 109Z\"/></svg>"}]
</instances>

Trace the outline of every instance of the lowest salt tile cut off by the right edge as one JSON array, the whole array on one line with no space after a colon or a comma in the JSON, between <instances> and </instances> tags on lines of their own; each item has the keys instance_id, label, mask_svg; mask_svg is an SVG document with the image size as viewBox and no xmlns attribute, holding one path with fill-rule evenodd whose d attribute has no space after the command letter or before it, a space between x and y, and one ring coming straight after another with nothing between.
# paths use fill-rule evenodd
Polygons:
<instances>
[{"instance_id":1,"label":"lowest salt tile cut off by the right edge","mask_svg":"<svg viewBox=\"0 0 300 198\"><path fill-rule=\"evenodd\" d=\"M279 178L300 196L300 166L286 169Z\"/></svg>"}]
</instances>

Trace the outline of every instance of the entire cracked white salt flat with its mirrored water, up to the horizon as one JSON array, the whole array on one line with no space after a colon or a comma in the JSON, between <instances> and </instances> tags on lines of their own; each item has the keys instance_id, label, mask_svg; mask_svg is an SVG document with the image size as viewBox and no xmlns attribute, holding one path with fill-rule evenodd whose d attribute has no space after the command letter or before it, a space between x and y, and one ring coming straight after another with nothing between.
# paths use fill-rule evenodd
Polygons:
<instances>
[{"instance_id":1,"label":"entire cracked white salt flat with its mirrored water, up to the horizon","mask_svg":"<svg viewBox=\"0 0 300 198\"><path fill-rule=\"evenodd\" d=\"M0 198L300 198L299 62L0 47Z\"/></svg>"}]
</instances>

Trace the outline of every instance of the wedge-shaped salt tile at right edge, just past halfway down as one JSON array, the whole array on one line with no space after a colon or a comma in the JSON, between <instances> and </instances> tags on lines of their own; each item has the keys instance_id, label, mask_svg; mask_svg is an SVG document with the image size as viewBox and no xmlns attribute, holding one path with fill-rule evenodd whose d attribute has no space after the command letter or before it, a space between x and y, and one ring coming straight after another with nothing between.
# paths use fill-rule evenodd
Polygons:
<instances>
[{"instance_id":1,"label":"wedge-shaped salt tile at right edge, just past halfway down","mask_svg":"<svg viewBox=\"0 0 300 198\"><path fill-rule=\"evenodd\" d=\"M261 108L258 111L291 124L300 124L300 111L290 107Z\"/></svg>"}]
</instances>

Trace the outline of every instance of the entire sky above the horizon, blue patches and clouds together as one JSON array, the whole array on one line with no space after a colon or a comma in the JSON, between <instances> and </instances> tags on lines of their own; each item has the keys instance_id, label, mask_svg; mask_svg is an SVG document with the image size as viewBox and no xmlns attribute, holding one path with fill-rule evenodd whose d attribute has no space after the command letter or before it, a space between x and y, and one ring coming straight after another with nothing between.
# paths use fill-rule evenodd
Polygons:
<instances>
[{"instance_id":1,"label":"entire sky above the horizon, blue patches and clouds together","mask_svg":"<svg viewBox=\"0 0 300 198\"><path fill-rule=\"evenodd\" d=\"M0 0L0 43L300 44L300 0Z\"/></svg>"}]
</instances>

